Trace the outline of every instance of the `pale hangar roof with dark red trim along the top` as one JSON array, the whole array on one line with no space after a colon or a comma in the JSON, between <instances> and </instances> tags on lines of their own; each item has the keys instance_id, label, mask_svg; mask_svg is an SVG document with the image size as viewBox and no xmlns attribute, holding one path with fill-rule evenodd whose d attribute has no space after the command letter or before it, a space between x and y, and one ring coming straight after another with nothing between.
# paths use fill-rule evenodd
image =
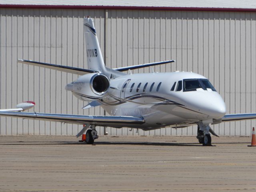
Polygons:
<instances>
[{"instance_id":1,"label":"pale hangar roof with dark red trim along the top","mask_svg":"<svg viewBox=\"0 0 256 192\"><path fill-rule=\"evenodd\" d=\"M2 8L256 11L255 0L0 0Z\"/></svg>"}]
</instances>

